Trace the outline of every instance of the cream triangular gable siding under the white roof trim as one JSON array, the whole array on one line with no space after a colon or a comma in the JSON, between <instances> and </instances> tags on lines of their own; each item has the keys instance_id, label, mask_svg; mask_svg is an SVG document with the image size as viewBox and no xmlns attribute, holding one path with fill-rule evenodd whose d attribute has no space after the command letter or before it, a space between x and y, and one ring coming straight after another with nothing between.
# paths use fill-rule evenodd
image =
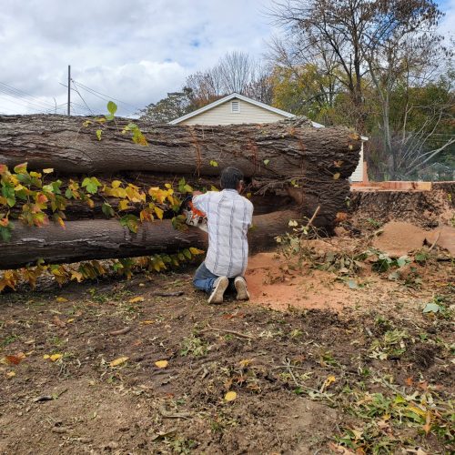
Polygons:
<instances>
[{"instance_id":1,"label":"cream triangular gable siding under the white roof trim","mask_svg":"<svg viewBox=\"0 0 455 455\"><path fill-rule=\"evenodd\" d=\"M283 120L285 116L270 112L262 107L252 105L243 100L235 99L240 112L231 112L231 100L212 107L198 116L183 120L180 125L232 125L238 123L271 123Z\"/></svg>"}]
</instances>

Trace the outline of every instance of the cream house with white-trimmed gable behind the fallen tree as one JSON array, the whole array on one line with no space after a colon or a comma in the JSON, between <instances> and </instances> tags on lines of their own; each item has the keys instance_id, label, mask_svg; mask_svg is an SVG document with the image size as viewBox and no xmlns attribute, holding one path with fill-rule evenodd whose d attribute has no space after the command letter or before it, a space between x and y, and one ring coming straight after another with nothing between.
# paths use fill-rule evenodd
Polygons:
<instances>
[{"instance_id":1,"label":"cream house with white-trimmed gable behind the fallen tree","mask_svg":"<svg viewBox=\"0 0 455 455\"><path fill-rule=\"evenodd\" d=\"M232 93L220 98L207 106L180 116L169 122L171 125L232 125L239 123L271 123L285 118L292 118L294 114L277 107L248 98L248 96ZM323 128L320 123L311 122L316 128ZM351 176L354 182L363 180L363 143L368 137L362 136L359 166Z\"/></svg>"}]
</instances>

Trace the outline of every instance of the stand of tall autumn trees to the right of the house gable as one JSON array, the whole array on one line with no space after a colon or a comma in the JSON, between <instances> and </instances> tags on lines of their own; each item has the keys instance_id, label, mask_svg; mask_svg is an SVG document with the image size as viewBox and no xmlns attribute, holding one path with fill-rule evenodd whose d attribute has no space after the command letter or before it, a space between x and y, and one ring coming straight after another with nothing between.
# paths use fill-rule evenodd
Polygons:
<instances>
[{"instance_id":1,"label":"stand of tall autumn trees to the right of the house gable","mask_svg":"<svg viewBox=\"0 0 455 455\"><path fill-rule=\"evenodd\" d=\"M453 153L451 52L431 0L288 0L272 11L274 103L371 138L377 178L416 178ZM428 96L427 96L428 95ZM434 97L432 97L434 96Z\"/></svg>"}]
</instances>

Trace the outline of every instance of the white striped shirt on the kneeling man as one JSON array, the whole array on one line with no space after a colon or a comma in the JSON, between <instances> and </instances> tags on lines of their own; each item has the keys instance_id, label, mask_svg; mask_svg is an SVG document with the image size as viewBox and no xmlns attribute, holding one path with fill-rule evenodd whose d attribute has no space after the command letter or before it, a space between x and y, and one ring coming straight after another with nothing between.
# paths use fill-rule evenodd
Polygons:
<instances>
[{"instance_id":1,"label":"white striped shirt on the kneeling man","mask_svg":"<svg viewBox=\"0 0 455 455\"><path fill-rule=\"evenodd\" d=\"M243 276L248 264L248 227L253 204L235 189L208 191L193 197L193 204L207 214L206 267L217 277Z\"/></svg>"}]
</instances>

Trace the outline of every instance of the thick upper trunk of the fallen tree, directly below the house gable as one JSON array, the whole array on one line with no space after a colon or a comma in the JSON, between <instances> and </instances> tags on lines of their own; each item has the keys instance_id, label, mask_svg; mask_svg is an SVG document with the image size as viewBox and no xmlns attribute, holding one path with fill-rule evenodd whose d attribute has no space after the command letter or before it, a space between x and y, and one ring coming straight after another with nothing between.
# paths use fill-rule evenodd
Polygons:
<instances>
[{"instance_id":1,"label":"thick upper trunk of the fallen tree, directly below the house gable","mask_svg":"<svg viewBox=\"0 0 455 455\"><path fill-rule=\"evenodd\" d=\"M227 166L246 177L349 177L359 161L360 137L345 127L315 128L299 121L265 125L171 126L137 121L149 147L121 129L130 119L83 126L93 117L0 116L0 163L27 162L61 174L147 171L217 176ZM213 161L217 166L213 166ZM212 162L212 165L210 164Z\"/></svg>"}]
</instances>

